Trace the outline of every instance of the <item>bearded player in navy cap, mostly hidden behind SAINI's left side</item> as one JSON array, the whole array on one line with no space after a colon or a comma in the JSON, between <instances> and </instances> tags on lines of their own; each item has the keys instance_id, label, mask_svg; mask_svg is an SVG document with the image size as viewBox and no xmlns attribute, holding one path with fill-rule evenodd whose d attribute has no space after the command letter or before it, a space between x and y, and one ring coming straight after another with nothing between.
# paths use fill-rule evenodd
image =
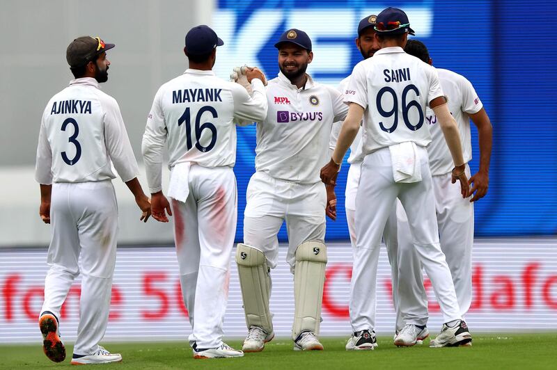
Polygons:
<instances>
[{"instance_id":1,"label":"bearded player in navy cap, mostly hidden behind SAINI's left side","mask_svg":"<svg viewBox=\"0 0 557 370\"><path fill-rule=\"evenodd\" d=\"M371 58L376 51L379 50L379 42L375 38L375 21L377 15L369 15L361 19L358 24L358 38L356 38L356 47L358 47L361 55L364 59ZM344 94L347 90L348 83L350 82L350 76L340 81L338 90L340 93ZM340 132L340 127L342 127L343 122L335 122L333 125L333 130L331 131L331 143L329 143L329 148L332 151L336 146L336 141L338 140L338 133ZM348 157L348 163L350 163L350 169L348 170L348 175L346 179L346 189L345 189L345 211L346 220L348 224L348 230L350 232L350 243L352 244L352 249L356 252L356 223L354 220L354 214L356 213L356 193L358 191L358 184L360 181L361 163L363 161L362 155L362 142L361 142L361 132L362 129L358 130L354 142L350 145L350 156ZM391 264L391 270L393 275L398 272L397 266L397 229L396 229L396 214L395 211L391 212L389 218L387 218L385 225L385 232L383 234L383 240L386 246L387 255L389 256L389 263ZM362 252L371 253L371 249L360 250ZM354 259L356 256L354 256ZM361 258L358 257L358 258ZM366 270L363 273L372 274L371 269ZM375 279L374 275L370 275L368 279ZM393 304L396 307L398 302L396 300L397 281L393 280ZM360 294L357 290L351 291L352 295ZM375 311L375 302L372 300L359 300L361 306L357 308L359 312L366 312L366 316L372 316ZM377 339L375 338L375 332L370 332L369 330L361 330L359 332L354 332L354 336L347 342L346 349L348 351L352 350L364 350L373 349L377 347Z\"/></svg>"}]
</instances>

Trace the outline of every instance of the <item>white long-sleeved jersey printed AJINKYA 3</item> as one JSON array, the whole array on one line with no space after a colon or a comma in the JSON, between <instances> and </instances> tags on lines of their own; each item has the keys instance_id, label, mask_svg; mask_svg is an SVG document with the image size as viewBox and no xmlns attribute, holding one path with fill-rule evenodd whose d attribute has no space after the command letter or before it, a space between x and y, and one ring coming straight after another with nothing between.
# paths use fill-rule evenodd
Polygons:
<instances>
[{"instance_id":1,"label":"white long-sleeved jersey printed AJINKYA 3","mask_svg":"<svg viewBox=\"0 0 557 370\"><path fill-rule=\"evenodd\" d=\"M137 162L116 99L90 77L74 79L47 104L40 124L35 179L99 182L137 177Z\"/></svg>"}]
</instances>

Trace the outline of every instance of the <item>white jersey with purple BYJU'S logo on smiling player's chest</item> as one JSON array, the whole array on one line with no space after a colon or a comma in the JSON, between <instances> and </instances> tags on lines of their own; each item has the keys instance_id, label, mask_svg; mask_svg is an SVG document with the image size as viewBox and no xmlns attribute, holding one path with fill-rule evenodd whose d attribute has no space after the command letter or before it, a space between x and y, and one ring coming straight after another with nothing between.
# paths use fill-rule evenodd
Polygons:
<instances>
[{"instance_id":1,"label":"white jersey with purple BYJU'S logo on smiling player's chest","mask_svg":"<svg viewBox=\"0 0 557 370\"><path fill-rule=\"evenodd\" d=\"M269 81L267 99L267 118L257 124L256 170L299 184L320 182L333 122L348 111L343 95L310 76L297 88L279 72Z\"/></svg>"}]
</instances>

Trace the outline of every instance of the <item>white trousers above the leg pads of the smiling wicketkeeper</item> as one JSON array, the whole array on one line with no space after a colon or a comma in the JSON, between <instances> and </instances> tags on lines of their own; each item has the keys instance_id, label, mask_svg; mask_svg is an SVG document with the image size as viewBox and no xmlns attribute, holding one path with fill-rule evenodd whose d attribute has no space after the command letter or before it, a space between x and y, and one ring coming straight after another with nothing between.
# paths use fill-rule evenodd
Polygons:
<instances>
[{"instance_id":1,"label":"white trousers above the leg pads of the smiling wicketkeeper","mask_svg":"<svg viewBox=\"0 0 557 370\"><path fill-rule=\"evenodd\" d=\"M294 271L296 248L325 239L327 193L322 182L297 184L257 171L249 180L244 211L244 244L263 252L270 268L278 258L277 234L284 220L288 232L286 260Z\"/></svg>"}]
</instances>

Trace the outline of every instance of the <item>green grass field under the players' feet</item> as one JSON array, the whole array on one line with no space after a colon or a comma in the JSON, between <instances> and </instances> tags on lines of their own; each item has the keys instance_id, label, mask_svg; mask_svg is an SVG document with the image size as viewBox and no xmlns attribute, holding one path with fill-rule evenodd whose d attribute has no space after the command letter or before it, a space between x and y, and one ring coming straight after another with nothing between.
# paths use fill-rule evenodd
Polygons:
<instances>
[{"instance_id":1,"label":"green grass field under the players' feet","mask_svg":"<svg viewBox=\"0 0 557 370\"><path fill-rule=\"evenodd\" d=\"M557 333L476 335L471 348L397 348L379 338L375 351L347 352L345 339L322 339L325 351L295 352L292 342L278 339L261 353L242 358L194 360L186 342L107 344L123 362L100 365L110 369L557 369ZM239 348L240 341L228 341ZM62 364L50 362L37 346L0 346L0 369L70 367L72 346ZM95 367L96 369L96 367Z\"/></svg>"}]
</instances>

